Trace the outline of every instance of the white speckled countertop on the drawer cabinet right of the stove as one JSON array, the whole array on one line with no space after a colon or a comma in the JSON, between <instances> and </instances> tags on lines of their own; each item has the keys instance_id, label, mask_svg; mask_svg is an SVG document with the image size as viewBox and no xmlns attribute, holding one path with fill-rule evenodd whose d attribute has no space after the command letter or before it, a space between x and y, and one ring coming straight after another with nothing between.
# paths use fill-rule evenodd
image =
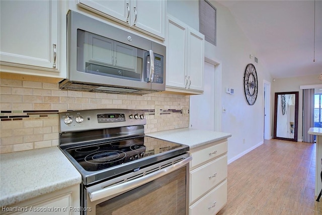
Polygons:
<instances>
[{"instance_id":1,"label":"white speckled countertop on the drawer cabinet right of the stove","mask_svg":"<svg viewBox=\"0 0 322 215\"><path fill-rule=\"evenodd\" d=\"M146 133L145 135L188 145L190 149L200 147L210 142L230 137L230 133L199 130L193 128L178 128L173 130Z\"/></svg>"}]
</instances>

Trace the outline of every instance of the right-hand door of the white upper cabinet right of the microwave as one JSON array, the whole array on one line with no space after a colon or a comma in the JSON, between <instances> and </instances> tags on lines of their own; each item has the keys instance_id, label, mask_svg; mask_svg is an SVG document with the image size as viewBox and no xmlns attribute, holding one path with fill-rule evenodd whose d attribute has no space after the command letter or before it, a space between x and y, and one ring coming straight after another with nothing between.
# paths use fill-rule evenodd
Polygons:
<instances>
[{"instance_id":1,"label":"right-hand door of the white upper cabinet right of the microwave","mask_svg":"<svg viewBox=\"0 0 322 215\"><path fill-rule=\"evenodd\" d=\"M188 89L203 91L205 36L194 29L188 29Z\"/></svg>"}]
</instances>

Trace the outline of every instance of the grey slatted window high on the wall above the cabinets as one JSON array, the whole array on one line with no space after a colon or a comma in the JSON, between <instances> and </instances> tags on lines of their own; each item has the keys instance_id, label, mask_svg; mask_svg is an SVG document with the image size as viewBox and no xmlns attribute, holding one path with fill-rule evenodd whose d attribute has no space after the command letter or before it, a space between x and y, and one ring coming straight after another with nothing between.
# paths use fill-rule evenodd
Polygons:
<instances>
[{"instance_id":1,"label":"grey slatted window high on the wall above the cabinets","mask_svg":"<svg viewBox=\"0 0 322 215\"><path fill-rule=\"evenodd\" d=\"M216 12L207 0L199 1L199 32L213 45L216 45Z\"/></svg>"}]
</instances>

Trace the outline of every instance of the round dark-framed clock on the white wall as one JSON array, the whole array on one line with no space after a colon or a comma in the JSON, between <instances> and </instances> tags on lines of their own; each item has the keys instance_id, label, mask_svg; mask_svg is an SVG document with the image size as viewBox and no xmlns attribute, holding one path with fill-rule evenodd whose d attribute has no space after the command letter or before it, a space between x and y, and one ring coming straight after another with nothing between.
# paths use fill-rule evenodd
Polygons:
<instances>
[{"instance_id":1,"label":"round dark-framed clock on the white wall","mask_svg":"<svg viewBox=\"0 0 322 215\"><path fill-rule=\"evenodd\" d=\"M246 66L244 74L245 97L249 105L254 105L258 93L258 81L255 66L250 63Z\"/></svg>"}]
</instances>

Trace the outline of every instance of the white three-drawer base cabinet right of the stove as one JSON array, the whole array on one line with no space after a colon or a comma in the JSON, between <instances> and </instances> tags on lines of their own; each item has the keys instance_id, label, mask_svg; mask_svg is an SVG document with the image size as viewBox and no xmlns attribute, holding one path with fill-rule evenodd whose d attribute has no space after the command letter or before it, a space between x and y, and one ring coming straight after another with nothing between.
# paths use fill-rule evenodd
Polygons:
<instances>
[{"instance_id":1,"label":"white three-drawer base cabinet right of the stove","mask_svg":"<svg viewBox=\"0 0 322 215\"><path fill-rule=\"evenodd\" d=\"M190 151L189 214L216 214L227 203L227 139Z\"/></svg>"}]
</instances>

